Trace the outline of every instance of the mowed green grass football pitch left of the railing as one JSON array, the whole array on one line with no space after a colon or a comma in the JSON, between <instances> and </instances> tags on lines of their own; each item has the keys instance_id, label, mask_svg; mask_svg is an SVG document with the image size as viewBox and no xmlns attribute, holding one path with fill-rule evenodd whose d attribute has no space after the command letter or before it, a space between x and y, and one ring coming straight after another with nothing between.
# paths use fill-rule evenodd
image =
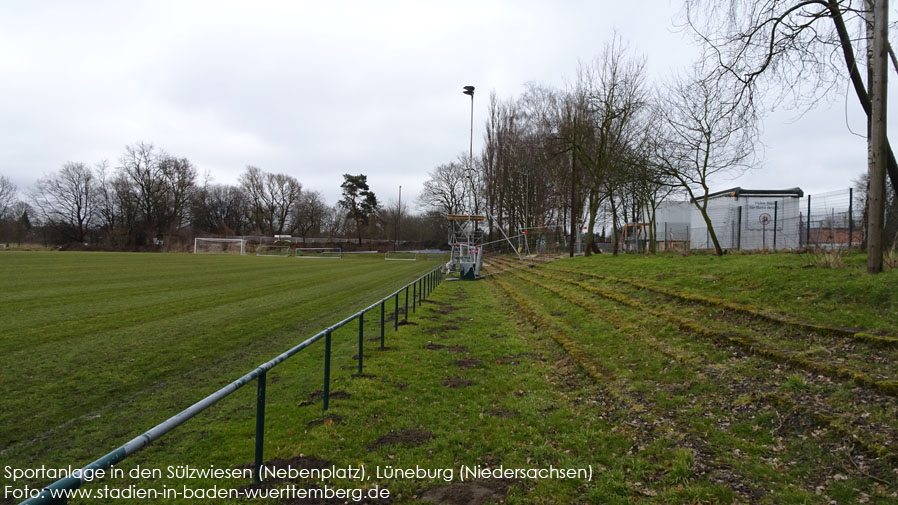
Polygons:
<instances>
[{"instance_id":1,"label":"mowed green grass football pitch left of the railing","mask_svg":"<svg viewBox=\"0 0 898 505\"><path fill-rule=\"evenodd\" d=\"M0 459L91 461L437 265L3 254Z\"/></svg>"}]
</instances>

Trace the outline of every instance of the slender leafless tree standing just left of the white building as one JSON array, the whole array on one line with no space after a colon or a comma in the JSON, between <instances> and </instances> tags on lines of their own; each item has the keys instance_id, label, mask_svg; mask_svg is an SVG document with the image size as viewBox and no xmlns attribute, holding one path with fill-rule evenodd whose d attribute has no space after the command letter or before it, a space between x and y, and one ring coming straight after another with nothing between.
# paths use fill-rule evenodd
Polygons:
<instances>
[{"instance_id":1,"label":"slender leafless tree standing just left of the white building","mask_svg":"<svg viewBox=\"0 0 898 505\"><path fill-rule=\"evenodd\" d=\"M735 106L721 80L678 79L657 98L658 171L683 188L708 227L714 250L723 248L708 216L711 178L748 168L754 161L757 118L750 107Z\"/></svg>"}]
</instances>

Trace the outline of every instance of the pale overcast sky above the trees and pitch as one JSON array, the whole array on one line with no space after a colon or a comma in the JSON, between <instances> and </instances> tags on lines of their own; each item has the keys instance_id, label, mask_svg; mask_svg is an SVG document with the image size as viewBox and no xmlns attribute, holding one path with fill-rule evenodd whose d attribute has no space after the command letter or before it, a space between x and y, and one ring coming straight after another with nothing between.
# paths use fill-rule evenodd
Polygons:
<instances>
[{"instance_id":1,"label":"pale overcast sky above the trees and pitch","mask_svg":"<svg viewBox=\"0 0 898 505\"><path fill-rule=\"evenodd\" d=\"M382 202L412 201L427 172L482 146L490 91L557 87L614 30L649 82L697 48L676 0L0 2L0 174L20 188L67 161L116 166L150 142L234 183L246 165L290 174L329 203L343 173ZM892 74L893 77L894 74ZM894 81L894 79L892 79ZM898 96L895 91L892 96ZM759 169L714 190L846 188L865 170L864 120L834 97L771 114ZM894 109L894 108L893 108ZM894 121L892 121L894 123Z\"/></svg>"}]
</instances>

